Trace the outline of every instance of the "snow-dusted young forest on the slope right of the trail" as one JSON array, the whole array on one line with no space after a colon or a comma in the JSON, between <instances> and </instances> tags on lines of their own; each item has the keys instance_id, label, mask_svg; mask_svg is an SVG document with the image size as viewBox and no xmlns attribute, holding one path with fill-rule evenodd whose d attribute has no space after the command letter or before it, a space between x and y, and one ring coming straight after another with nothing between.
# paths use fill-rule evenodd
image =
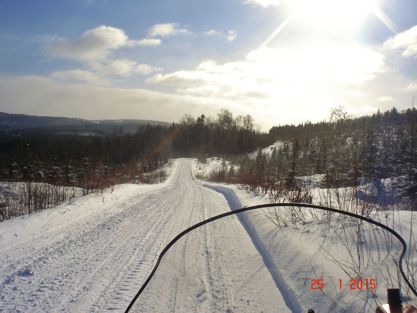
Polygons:
<instances>
[{"instance_id":1,"label":"snow-dusted young forest on the slope right of the trail","mask_svg":"<svg viewBox=\"0 0 417 313\"><path fill-rule=\"evenodd\" d=\"M417 111L398 112L395 107L372 116L353 118L343 107L332 109L329 121L278 125L269 137L281 141L279 149L256 157L233 156L208 180L241 184L254 192L270 192L273 199L311 203L311 192L303 189L300 177L320 175L323 189L400 177L397 196L417 199L416 131ZM382 188L382 187L381 187Z\"/></svg>"}]
</instances>

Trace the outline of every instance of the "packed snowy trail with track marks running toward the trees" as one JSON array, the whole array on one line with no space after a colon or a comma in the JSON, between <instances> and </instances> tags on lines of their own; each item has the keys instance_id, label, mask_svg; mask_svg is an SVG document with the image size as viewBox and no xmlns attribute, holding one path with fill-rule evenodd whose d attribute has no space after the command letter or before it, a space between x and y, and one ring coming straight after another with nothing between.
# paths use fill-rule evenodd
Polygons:
<instances>
[{"instance_id":1,"label":"packed snowy trail with track marks running toward the trees","mask_svg":"<svg viewBox=\"0 0 417 313\"><path fill-rule=\"evenodd\" d=\"M37 220L35 215L26 217L26 223L31 219L40 223L33 236L25 236L22 230L19 240L0 241L0 311L123 311L147 278L159 252L173 237L190 225L230 210L223 195L193 181L190 159L177 162L168 183L136 188L117 201L101 202L98 208L68 221L50 220L45 212ZM21 229L19 220L8 223L0 224L0 233L7 225ZM213 240L211 232L217 232L217 238L223 240ZM240 286L237 290L230 287L233 255L219 252L204 257L200 251L201 247L233 245L250 256L248 271L256 268L262 273L262 280L257 282L261 286L249 286L250 289L268 285L269 290L275 290L265 297L272 296L275 305L284 303L277 300L278 289L261 264L261 257L256 256L249 236L241 234L246 232L236 218L222 229L191 238L184 247L187 250L182 255L183 266L208 269L204 278L208 295L218 293L230 298L236 293L234 297L241 298L246 291ZM8 242L13 244L7 245ZM210 262L209 257L217 258L217 262ZM173 285L167 286L172 293L178 291ZM260 305L266 301L261 295L258 298ZM210 309L211 302L206 301L205 305Z\"/></svg>"}]
</instances>

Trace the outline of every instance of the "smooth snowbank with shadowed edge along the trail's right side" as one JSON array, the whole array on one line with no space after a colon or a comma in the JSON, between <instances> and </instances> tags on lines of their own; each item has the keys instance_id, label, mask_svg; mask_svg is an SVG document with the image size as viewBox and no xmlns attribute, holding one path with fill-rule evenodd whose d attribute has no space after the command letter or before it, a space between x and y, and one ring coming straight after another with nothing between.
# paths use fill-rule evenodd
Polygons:
<instances>
[{"instance_id":1,"label":"smooth snowbank with shadowed edge along the trail's right side","mask_svg":"<svg viewBox=\"0 0 417 313\"><path fill-rule=\"evenodd\" d=\"M196 167L198 168L198 163L194 161L192 168ZM193 171L193 173L195 172ZM319 178L312 179L311 183L314 184ZM223 194L231 210L268 203L266 195L254 194L236 185L206 183L198 179L195 179L195 181L204 187ZM368 279L370 280L371 278L375 278L376 273L378 273L377 278L383 278L380 279L381 281L377 281L376 291L369 289L352 291L349 288L352 273L350 273L350 276L347 275L340 266L342 263L329 261L331 257L330 255L326 255L326 251L332 251L332 254L336 253L338 260L350 260L349 254L354 251L354 248L347 249L346 247L342 247L337 232L335 232L336 235L333 234L332 236L323 235L321 241L319 241L320 236L319 239L317 239L317 236L309 236L309 232L327 234L329 231L329 224L324 222L319 223L313 217L309 218L310 220L307 226L299 226L298 228L289 226L279 230L273 223L266 221L265 216L262 216L260 212L250 211L239 216L239 220L241 220L242 225L244 225L254 245L264 259L269 272L289 307L298 312L306 311L309 308L332 308L334 311L361 310L363 312L374 312L377 303L375 303L372 293L377 295L377 299L384 301L386 299L386 288L398 288L398 284L395 282L394 285L390 285L390 283L382 280L387 278L390 275L389 273L392 274L394 279L396 278L397 266L395 261L398 260L399 254L386 256L389 259L387 258L385 260L387 263L384 264L385 267L377 261L372 261L374 262L372 265L368 264L367 267L363 267L361 278L366 279L369 277ZM332 217L332 219L335 218ZM410 211L389 211L380 212L379 215L374 215L373 218L399 232L407 241L409 248L413 250L416 242L414 234L417 233L417 226L414 221L417 218L416 214L413 215L413 212ZM308 221L308 218L306 220ZM334 223L334 228L337 229L337 225L339 225L337 223L339 221L330 221ZM346 234L346 230L340 230L340 232L342 231ZM346 245L351 244L356 238L355 227L347 228L347 231L349 234L352 234L352 237L350 239L348 236L344 238L344 244ZM382 254L385 253L384 255L387 255L389 249L394 251L395 249L392 245L396 249L399 249L398 240L393 238L391 243L392 239L387 240L387 233L381 229L372 228L372 234L374 234L374 237L367 237L369 245L373 246L373 250L367 255L370 260L379 260ZM285 238L285 242L282 242L283 237ZM359 249L359 251L361 250ZM412 252L416 253L415 249ZM414 266L415 269L417 261L414 259L415 257L412 255L409 257L409 261L411 261L410 266ZM322 268L323 266L324 268ZM312 275L312 271L317 276ZM324 279L326 283L326 293L322 293L321 290L311 289L311 279L320 278ZM339 279L343 282L342 288L338 288ZM358 301L358 297L360 301ZM368 303L361 298L367 300ZM307 306L305 303L310 303L311 305ZM340 306L340 303L343 303L343 307ZM386 300L384 303L386 303Z\"/></svg>"}]
</instances>

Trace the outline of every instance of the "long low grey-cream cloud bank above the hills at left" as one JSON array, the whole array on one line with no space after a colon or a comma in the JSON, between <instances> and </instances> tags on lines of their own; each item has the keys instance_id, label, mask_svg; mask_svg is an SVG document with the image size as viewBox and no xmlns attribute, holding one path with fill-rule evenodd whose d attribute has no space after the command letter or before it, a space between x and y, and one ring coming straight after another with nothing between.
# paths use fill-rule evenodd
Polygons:
<instances>
[{"instance_id":1,"label":"long low grey-cream cloud bank above the hills at left","mask_svg":"<svg viewBox=\"0 0 417 313\"><path fill-rule=\"evenodd\" d=\"M179 121L184 112L215 115L231 103L139 88L63 83L40 76L0 77L0 111L84 119ZM13 108L13 109L12 109ZM12 112L13 111L13 112Z\"/></svg>"}]
</instances>

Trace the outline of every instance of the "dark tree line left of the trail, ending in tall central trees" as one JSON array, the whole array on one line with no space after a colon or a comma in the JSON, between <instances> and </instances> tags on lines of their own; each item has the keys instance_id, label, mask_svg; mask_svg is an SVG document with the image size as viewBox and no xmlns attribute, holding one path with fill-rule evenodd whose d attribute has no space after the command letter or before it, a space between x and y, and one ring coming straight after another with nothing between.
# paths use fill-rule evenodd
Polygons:
<instances>
[{"instance_id":1,"label":"dark tree line left of the trail, ending in tall central trees","mask_svg":"<svg viewBox=\"0 0 417 313\"><path fill-rule=\"evenodd\" d=\"M171 126L139 126L134 134L115 127L106 135L0 132L3 181L47 182L93 192L123 182L140 182L170 158L244 154L268 145L250 115L222 109L216 119L185 114Z\"/></svg>"}]
</instances>

